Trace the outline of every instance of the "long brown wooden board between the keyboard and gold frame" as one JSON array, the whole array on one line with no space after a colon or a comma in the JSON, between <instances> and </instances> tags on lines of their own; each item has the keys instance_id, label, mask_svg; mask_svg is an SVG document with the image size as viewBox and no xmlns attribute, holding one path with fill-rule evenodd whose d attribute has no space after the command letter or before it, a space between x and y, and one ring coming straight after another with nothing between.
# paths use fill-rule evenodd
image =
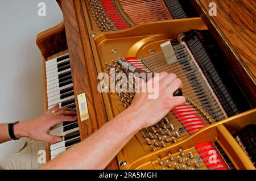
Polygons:
<instances>
[{"instance_id":1,"label":"long brown wooden board between the keyboard and gold frame","mask_svg":"<svg viewBox=\"0 0 256 181\"><path fill-rule=\"evenodd\" d=\"M86 31L81 2L72 0L60 2L63 10L71 61L76 107L79 107L76 95L85 92L87 98L90 118L81 122L78 116L80 134L82 140L84 140L102 127L102 125L108 121L108 118L106 116L102 95L97 90L97 70L89 43L89 35ZM117 169L115 158L107 169Z\"/></svg>"}]
</instances>

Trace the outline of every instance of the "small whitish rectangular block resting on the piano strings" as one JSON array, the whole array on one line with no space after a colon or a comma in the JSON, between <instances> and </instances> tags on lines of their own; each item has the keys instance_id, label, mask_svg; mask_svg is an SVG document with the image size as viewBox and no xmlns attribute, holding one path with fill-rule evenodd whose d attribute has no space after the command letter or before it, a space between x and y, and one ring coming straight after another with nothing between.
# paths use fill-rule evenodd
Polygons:
<instances>
[{"instance_id":1,"label":"small whitish rectangular block resting on the piano strings","mask_svg":"<svg viewBox=\"0 0 256 181\"><path fill-rule=\"evenodd\" d=\"M171 65L177 62L171 41L167 41L166 43L161 44L160 47L162 48L164 57L166 58L167 65Z\"/></svg>"}]
</instances>

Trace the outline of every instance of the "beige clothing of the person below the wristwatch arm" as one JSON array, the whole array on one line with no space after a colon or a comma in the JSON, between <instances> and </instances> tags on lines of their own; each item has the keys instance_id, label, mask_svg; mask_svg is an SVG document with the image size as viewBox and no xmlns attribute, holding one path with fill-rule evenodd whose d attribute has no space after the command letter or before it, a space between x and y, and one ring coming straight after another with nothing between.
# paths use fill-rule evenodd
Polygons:
<instances>
[{"instance_id":1,"label":"beige clothing of the person below the wristwatch arm","mask_svg":"<svg viewBox=\"0 0 256 181\"><path fill-rule=\"evenodd\" d=\"M25 143L22 148L14 154L8 155L0 161L0 168L5 170L36 170L42 164L38 163L38 151L46 150L46 144L43 141L30 141Z\"/></svg>"}]
</instances>

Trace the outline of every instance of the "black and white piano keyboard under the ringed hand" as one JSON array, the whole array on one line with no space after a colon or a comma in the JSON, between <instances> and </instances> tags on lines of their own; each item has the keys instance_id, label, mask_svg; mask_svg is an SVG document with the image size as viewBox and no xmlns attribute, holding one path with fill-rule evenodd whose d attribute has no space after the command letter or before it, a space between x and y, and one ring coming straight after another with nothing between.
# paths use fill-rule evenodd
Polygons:
<instances>
[{"instance_id":1,"label":"black and white piano keyboard under the ringed hand","mask_svg":"<svg viewBox=\"0 0 256 181\"><path fill-rule=\"evenodd\" d=\"M48 109L59 104L60 107L68 107L76 111L69 54L46 61L46 78ZM55 125L49 133L63 138L61 142L50 146L51 159L77 144L81 139L77 120Z\"/></svg>"}]
</instances>

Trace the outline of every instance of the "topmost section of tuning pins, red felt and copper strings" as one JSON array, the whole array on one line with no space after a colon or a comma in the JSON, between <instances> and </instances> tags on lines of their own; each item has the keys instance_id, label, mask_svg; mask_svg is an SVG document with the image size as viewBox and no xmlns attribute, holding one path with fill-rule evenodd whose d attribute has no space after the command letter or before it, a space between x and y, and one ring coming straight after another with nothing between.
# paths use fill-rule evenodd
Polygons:
<instances>
[{"instance_id":1,"label":"topmost section of tuning pins, red felt and copper strings","mask_svg":"<svg viewBox=\"0 0 256 181\"><path fill-rule=\"evenodd\" d=\"M187 0L90 0L101 31L125 30L147 22L198 16Z\"/></svg>"}]
</instances>

